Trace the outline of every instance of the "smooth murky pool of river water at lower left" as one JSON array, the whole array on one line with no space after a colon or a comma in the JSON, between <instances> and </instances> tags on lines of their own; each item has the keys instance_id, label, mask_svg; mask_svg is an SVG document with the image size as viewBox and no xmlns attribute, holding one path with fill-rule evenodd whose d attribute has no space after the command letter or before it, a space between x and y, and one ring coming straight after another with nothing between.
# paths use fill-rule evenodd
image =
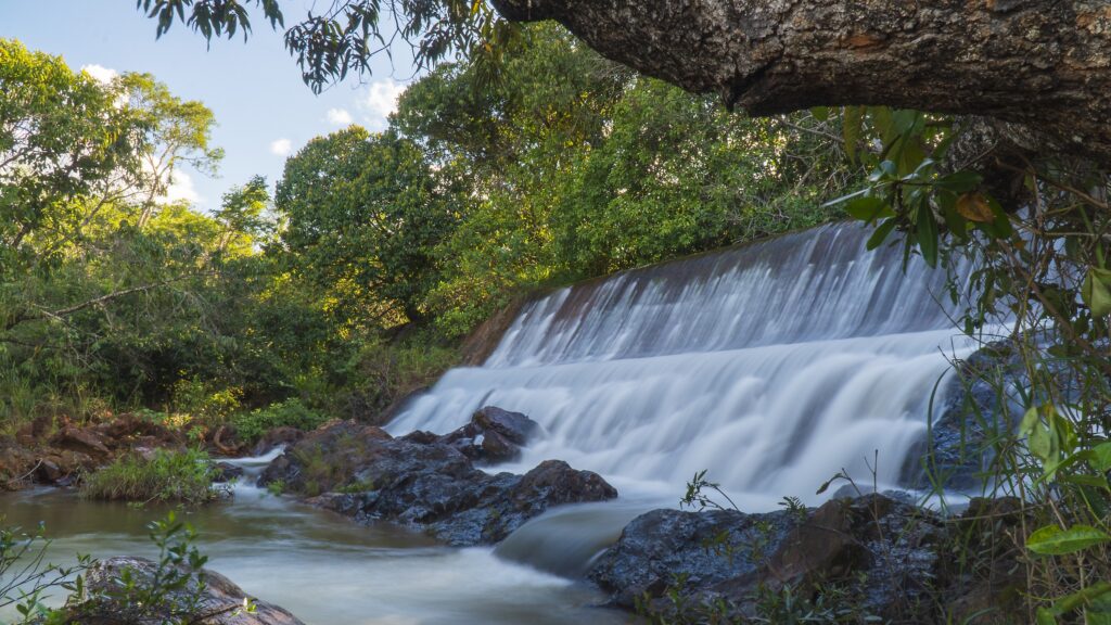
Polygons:
<instances>
[{"instance_id":1,"label":"smooth murky pool of river water at lower left","mask_svg":"<svg viewBox=\"0 0 1111 625\"><path fill-rule=\"evenodd\" d=\"M144 526L164 513L54 489L0 494L7 525L46 523L52 562L74 553L152 557ZM603 598L597 591L492 549L447 548L387 524L359 527L249 486L184 516L209 568L310 625L630 622L592 607Z\"/></svg>"}]
</instances>

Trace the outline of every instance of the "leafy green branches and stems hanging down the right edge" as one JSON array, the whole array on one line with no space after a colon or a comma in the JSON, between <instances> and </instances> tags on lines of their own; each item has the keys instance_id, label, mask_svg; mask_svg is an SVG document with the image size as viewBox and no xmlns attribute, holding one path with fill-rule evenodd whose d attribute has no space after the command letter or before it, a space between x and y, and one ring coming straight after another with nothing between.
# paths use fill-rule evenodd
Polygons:
<instances>
[{"instance_id":1,"label":"leafy green branches and stems hanging down the right edge","mask_svg":"<svg viewBox=\"0 0 1111 625\"><path fill-rule=\"evenodd\" d=\"M843 118L848 151L871 175L838 201L875 227L869 246L901 245L908 262L971 262L964 331L1013 328L1005 341L1020 375L987 371L979 381L997 389L1000 406L1024 410L993 439L989 484L1017 496L1033 520L1018 537L1031 621L1078 611L1107 619L1111 178L1083 162L961 160L952 147L964 128L940 116L849 108ZM964 287L951 285L954 304Z\"/></svg>"}]
</instances>

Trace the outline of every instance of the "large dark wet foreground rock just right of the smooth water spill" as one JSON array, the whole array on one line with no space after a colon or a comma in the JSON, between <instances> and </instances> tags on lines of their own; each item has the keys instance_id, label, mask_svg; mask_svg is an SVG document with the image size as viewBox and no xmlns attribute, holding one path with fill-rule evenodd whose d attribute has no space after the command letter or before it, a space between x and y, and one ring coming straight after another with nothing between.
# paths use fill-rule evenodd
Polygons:
<instances>
[{"instance_id":1,"label":"large dark wet foreground rock just right of the smooth water spill","mask_svg":"<svg viewBox=\"0 0 1111 625\"><path fill-rule=\"evenodd\" d=\"M761 593L790 586L807 596L835 584L881 619L913 618L930 607L940 536L932 513L882 495L804 515L661 509L630 523L589 578L617 605L641 601L664 614L675 609L669 594L688 609L723 604L744 618Z\"/></svg>"}]
</instances>

